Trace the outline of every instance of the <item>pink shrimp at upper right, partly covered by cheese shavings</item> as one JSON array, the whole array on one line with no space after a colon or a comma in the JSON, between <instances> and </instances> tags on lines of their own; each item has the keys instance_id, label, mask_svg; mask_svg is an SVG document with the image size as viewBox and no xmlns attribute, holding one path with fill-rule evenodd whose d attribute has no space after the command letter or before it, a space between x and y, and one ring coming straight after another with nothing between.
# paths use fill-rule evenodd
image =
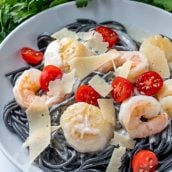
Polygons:
<instances>
[{"instance_id":1,"label":"pink shrimp at upper right, partly covered by cheese shavings","mask_svg":"<svg viewBox=\"0 0 172 172\"><path fill-rule=\"evenodd\" d=\"M121 55L119 58L114 60L114 64L116 67L118 67L118 69L120 70L120 67L127 61L131 61L132 62L132 66L128 75L128 79L131 82L135 82L137 77L148 71L148 61L146 59L146 57L141 54L138 51L121 51L120 52ZM98 71L101 72L108 72L109 70L113 69L113 64L112 62L108 62L106 64L104 64L103 66L101 66Z\"/></svg>"}]
</instances>

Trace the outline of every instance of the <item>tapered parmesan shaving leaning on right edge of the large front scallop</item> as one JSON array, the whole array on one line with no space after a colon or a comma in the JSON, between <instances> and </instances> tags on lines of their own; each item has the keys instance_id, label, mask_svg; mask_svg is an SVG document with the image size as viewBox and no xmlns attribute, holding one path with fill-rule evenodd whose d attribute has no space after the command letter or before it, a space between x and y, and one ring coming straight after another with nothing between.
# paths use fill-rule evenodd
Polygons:
<instances>
[{"instance_id":1,"label":"tapered parmesan shaving leaning on right edge of the large front scallop","mask_svg":"<svg viewBox=\"0 0 172 172\"><path fill-rule=\"evenodd\" d=\"M103 119L115 126L116 114L112 99L98 99L98 105L100 107Z\"/></svg>"}]
</instances>

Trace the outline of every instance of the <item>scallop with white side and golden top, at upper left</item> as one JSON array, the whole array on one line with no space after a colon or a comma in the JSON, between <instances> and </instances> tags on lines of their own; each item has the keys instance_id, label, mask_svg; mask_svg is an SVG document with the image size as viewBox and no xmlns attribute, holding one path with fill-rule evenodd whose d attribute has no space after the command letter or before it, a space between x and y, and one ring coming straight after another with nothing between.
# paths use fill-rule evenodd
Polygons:
<instances>
[{"instance_id":1,"label":"scallop with white side and golden top, at upper left","mask_svg":"<svg viewBox=\"0 0 172 172\"><path fill-rule=\"evenodd\" d=\"M44 65L61 67L65 72L70 71L69 60L74 57L89 56L91 52L79 41L64 37L51 42L44 53Z\"/></svg>"}]
</instances>

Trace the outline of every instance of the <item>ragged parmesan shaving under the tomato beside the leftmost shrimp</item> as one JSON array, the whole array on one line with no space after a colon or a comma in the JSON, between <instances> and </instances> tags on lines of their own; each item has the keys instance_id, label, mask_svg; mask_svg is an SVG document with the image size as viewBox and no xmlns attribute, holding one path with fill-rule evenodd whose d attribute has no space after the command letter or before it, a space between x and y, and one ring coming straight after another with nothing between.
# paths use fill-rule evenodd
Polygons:
<instances>
[{"instance_id":1,"label":"ragged parmesan shaving under the tomato beside the leftmost shrimp","mask_svg":"<svg viewBox=\"0 0 172 172\"><path fill-rule=\"evenodd\" d=\"M64 73L62 79L56 79L50 81L47 94L53 97L64 97L66 94L69 94L75 83L75 71L70 73Z\"/></svg>"}]
</instances>

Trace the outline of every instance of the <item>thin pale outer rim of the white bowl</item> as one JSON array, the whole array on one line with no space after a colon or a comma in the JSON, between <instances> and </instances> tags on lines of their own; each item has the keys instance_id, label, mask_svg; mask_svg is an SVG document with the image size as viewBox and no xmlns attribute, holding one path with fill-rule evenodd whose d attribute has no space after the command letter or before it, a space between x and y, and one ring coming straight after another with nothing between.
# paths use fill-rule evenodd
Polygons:
<instances>
[{"instance_id":1,"label":"thin pale outer rim of the white bowl","mask_svg":"<svg viewBox=\"0 0 172 172\"><path fill-rule=\"evenodd\" d=\"M158 8L158 7L155 7L153 5L150 5L150 4L146 4L146 3L143 3L143 2L138 2L138 1L131 1L131 0L116 0L116 1L120 1L121 3L130 3L130 4L136 4L138 6L142 6L143 8L152 8L152 10L157 10L161 13L164 13L166 15L170 15L172 16L172 13L164 10L164 9L161 9L161 8ZM16 30L18 30L19 28L23 27L24 25L26 25L28 22L30 22L31 20L33 20L34 18L37 18L41 15L44 15L44 13L48 13L49 11L51 10L55 10L55 9L59 9L59 8L63 8L63 7L66 7L66 6L71 6L71 5L75 5L75 1L72 1L72 2L67 2L67 3L64 3L64 4L60 4L60 5L57 5L57 6L54 6L52 8L49 8L49 9L46 9L42 12L39 12L38 14L28 18L27 20L25 20L24 22L22 22L20 25L18 25L14 30L12 30L8 35L7 37L0 43L0 51L1 51L1 48L4 46L4 44L6 44L6 42L10 39L11 35L13 35L13 33L16 32ZM91 5L91 3L90 3ZM2 114L1 114L2 115ZM15 159L12 158L12 156L6 151L5 147L2 145L1 141L0 141L0 151L3 153L3 155L5 155L5 157L14 165L14 167L16 167L18 170L21 170L21 171L24 171L22 165L20 165Z\"/></svg>"}]
</instances>

